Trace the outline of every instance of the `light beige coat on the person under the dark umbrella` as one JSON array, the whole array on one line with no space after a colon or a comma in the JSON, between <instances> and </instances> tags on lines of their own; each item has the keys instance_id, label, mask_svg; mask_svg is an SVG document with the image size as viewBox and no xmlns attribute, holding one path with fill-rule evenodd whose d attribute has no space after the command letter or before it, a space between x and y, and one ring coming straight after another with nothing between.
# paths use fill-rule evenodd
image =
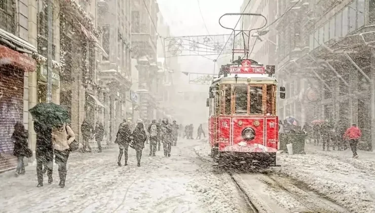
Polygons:
<instances>
[{"instance_id":1,"label":"light beige coat on the person under the dark umbrella","mask_svg":"<svg viewBox=\"0 0 375 213\"><path fill-rule=\"evenodd\" d=\"M69 144L76 138L70 126L63 124L61 128L52 128L52 144L53 148L58 151L69 149Z\"/></svg>"}]
</instances>

